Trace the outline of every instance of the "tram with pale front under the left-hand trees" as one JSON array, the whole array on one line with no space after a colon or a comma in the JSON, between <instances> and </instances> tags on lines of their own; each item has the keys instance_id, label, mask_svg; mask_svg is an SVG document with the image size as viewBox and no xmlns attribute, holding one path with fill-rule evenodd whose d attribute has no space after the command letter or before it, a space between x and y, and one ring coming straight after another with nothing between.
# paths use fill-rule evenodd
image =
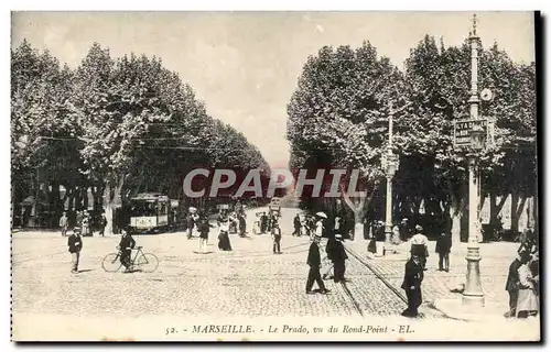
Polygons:
<instances>
[{"instance_id":1,"label":"tram with pale front under the left-hand trees","mask_svg":"<svg viewBox=\"0 0 551 352\"><path fill-rule=\"evenodd\" d=\"M161 194L139 194L129 199L127 209L130 228L137 232L153 232L169 228L171 199Z\"/></svg>"}]
</instances>

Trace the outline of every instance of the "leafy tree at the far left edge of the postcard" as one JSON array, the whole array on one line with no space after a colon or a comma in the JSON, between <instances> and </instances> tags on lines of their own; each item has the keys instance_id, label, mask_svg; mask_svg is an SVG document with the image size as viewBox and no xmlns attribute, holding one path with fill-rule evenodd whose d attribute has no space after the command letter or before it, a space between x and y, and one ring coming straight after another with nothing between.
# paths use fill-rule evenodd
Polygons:
<instances>
[{"instance_id":1,"label":"leafy tree at the far left edge of the postcard","mask_svg":"<svg viewBox=\"0 0 551 352\"><path fill-rule=\"evenodd\" d=\"M76 128L67 114L73 73L23 41L12 51L11 76L12 201L32 188L40 198L35 205L50 202L50 211L58 213L66 199L60 199L60 184L74 177L79 164L76 145L63 139ZM34 175L32 183L29 175ZM42 195L39 184L51 190Z\"/></svg>"}]
</instances>

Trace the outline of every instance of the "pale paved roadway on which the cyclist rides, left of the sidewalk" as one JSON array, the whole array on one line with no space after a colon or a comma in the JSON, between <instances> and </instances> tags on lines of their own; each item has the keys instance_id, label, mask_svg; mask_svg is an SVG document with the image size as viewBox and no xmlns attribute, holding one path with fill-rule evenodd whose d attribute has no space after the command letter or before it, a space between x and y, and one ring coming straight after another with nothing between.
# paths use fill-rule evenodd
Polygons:
<instances>
[{"instance_id":1,"label":"pale paved roadway on which the cyclist rides, left of the sidewalk","mask_svg":"<svg viewBox=\"0 0 551 352\"><path fill-rule=\"evenodd\" d=\"M231 235L233 252L216 248L196 254L197 240L184 233L136 237L160 258L159 270L105 273L102 257L118 238L85 238L80 273L69 273L66 239L55 233L18 233L13 238L14 312L78 316L150 314L209 316L388 316L404 304L357 262L350 261L347 289L326 282L327 296L305 295L310 242L291 237L295 209L283 209L282 252L274 255L269 235ZM253 213L248 215L252 219ZM250 221L249 221L250 222ZM249 223L249 228L251 224Z\"/></svg>"}]
</instances>

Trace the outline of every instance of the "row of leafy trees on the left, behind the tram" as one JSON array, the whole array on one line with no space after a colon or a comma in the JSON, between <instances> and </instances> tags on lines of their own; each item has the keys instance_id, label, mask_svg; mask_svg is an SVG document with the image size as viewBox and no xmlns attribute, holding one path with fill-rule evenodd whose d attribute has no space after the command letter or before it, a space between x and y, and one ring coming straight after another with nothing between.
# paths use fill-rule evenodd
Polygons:
<instances>
[{"instance_id":1,"label":"row of leafy trees on the left, behind the tram","mask_svg":"<svg viewBox=\"0 0 551 352\"><path fill-rule=\"evenodd\" d=\"M91 189L109 220L125 195L183 198L183 177L197 165L269 173L260 152L209 117L160 58L112 58L96 43L71 69L28 42L11 54L12 206L40 184L60 213L67 199L83 207Z\"/></svg>"}]
</instances>

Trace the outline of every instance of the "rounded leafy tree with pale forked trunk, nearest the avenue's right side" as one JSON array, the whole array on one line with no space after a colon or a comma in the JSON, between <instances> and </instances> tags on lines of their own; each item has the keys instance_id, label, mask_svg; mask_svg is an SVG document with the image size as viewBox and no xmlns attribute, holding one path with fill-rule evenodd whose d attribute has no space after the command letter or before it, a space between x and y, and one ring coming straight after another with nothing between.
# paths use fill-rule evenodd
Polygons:
<instances>
[{"instance_id":1,"label":"rounded leafy tree with pale forked trunk, nearest the avenue's right side","mask_svg":"<svg viewBox=\"0 0 551 352\"><path fill-rule=\"evenodd\" d=\"M365 42L357 50L325 46L309 57L299 87L288 106L291 167L305 161L333 168L358 169L368 197L354 197L341 186L361 235L366 207L382 176L380 156L386 148L386 120L401 96L402 75L388 58Z\"/></svg>"}]
</instances>

